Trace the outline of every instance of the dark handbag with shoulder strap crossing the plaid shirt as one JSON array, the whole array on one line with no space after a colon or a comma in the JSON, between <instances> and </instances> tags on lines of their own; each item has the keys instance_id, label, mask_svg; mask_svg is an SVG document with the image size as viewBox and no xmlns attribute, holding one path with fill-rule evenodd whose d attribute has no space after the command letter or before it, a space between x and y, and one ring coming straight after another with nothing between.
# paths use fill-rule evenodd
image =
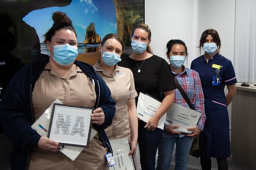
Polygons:
<instances>
[{"instance_id":1,"label":"dark handbag with shoulder strap crossing the plaid shirt","mask_svg":"<svg viewBox=\"0 0 256 170\"><path fill-rule=\"evenodd\" d=\"M194 110L194 106L191 104L188 95L186 94L186 92L184 91L184 89L180 86L180 84L178 83L178 80L174 77L174 82L176 87L178 88L178 90L180 91L180 94L182 95L182 97L184 98L184 100L186 101L186 103L188 104L188 106L190 107L190 109ZM190 148L190 152L189 154L191 156L194 156L196 158L200 157L200 150L199 150L199 137L195 137L191 148Z\"/></svg>"}]
</instances>

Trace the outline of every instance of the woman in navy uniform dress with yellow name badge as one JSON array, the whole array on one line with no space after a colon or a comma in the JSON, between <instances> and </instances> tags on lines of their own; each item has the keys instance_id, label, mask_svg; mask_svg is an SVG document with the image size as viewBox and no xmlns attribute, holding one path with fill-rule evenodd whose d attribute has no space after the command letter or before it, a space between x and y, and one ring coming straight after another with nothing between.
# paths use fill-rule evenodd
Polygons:
<instances>
[{"instance_id":1,"label":"woman in navy uniform dress with yellow name badge","mask_svg":"<svg viewBox=\"0 0 256 170\"><path fill-rule=\"evenodd\" d=\"M194 59L191 68L202 82L206 122L200 134L199 148L203 170L211 169L211 157L217 158L218 169L227 170L230 156L230 136L227 106L236 94L236 75L230 60L220 55L220 37L214 29L206 29L200 39L204 55ZM228 94L225 96L224 88Z\"/></svg>"}]
</instances>

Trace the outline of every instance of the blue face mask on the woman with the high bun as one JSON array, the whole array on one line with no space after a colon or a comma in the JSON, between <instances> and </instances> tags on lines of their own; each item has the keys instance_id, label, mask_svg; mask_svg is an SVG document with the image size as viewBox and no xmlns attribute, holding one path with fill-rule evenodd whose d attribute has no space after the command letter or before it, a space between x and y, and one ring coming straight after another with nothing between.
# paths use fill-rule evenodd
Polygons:
<instances>
[{"instance_id":1,"label":"blue face mask on the woman with the high bun","mask_svg":"<svg viewBox=\"0 0 256 170\"><path fill-rule=\"evenodd\" d=\"M52 58L62 66L68 66L72 64L78 55L77 47L73 45L61 44L54 46L52 45L52 47L54 52Z\"/></svg>"}]
</instances>

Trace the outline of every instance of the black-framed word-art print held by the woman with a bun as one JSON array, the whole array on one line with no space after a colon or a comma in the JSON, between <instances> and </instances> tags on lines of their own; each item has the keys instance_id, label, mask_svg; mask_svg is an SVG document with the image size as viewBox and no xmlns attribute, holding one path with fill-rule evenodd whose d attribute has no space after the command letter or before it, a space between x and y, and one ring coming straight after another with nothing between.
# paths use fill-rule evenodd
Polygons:
<instances>
[{"instance_id":1,"label":"black-framed word-art print held by the woman with a bun","mask_svg":"<svg viewBox=\"0 0 256 170\"><path fill-rule=\"evenodd\" d=\"M48 138L60 145L89 147L93 108L53 104Z\"/></svg>"}]
</instances>

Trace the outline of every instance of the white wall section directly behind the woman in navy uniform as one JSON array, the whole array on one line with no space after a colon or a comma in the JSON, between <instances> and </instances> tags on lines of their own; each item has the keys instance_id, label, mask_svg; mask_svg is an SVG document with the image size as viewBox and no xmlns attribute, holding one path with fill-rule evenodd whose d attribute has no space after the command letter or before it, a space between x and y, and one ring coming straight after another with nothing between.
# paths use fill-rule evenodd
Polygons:
<instances>
[{"instance_id":1,"label":"white wall section directly behind the woman in navy uniform","mask_svg":"<svg viewBox=\"0 0 256 170\"><path fill-rule=\"evenodd\" d=\"M236 0L198 0L198 44L205 29L220 35L220 54L234 63Z\"/></svg>"}]
</instances>

